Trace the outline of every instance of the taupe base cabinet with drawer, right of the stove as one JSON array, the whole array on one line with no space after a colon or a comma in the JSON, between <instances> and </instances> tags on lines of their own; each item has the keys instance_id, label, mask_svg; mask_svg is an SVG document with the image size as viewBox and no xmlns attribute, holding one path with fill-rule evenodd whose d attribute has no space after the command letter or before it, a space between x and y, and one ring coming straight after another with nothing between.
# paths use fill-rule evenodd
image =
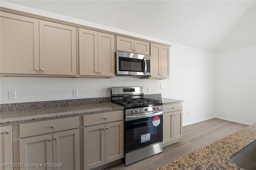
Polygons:
<instances>
[{"instance_id":1,"label":"taupe base cabinet with drawer, right of the stove","mask_svg":"<svg viewBox=\"0 0 256 170\"><path fill-rule=\"evenodd\" d=\"M164 105L163 145L177 142L182 137L182 103Z\"/></svg>"}]
</instances>

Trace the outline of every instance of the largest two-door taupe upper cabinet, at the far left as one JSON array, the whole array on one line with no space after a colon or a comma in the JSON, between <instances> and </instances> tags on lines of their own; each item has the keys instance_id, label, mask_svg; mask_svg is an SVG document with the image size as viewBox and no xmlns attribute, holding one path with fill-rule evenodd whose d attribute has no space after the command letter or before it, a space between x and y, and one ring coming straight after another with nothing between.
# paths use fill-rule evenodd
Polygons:
<instances>
[{"instance_id":1,"label":"largest two-door taupe upper cabinet, at the far left","mask_svg":"<svg viewBox=\"0 0 256 170\"><path fill-rule=\"evenodd\" d=\"M0 73L76 75L76 28L1 12Z\"/></svg>"}]
</instances>

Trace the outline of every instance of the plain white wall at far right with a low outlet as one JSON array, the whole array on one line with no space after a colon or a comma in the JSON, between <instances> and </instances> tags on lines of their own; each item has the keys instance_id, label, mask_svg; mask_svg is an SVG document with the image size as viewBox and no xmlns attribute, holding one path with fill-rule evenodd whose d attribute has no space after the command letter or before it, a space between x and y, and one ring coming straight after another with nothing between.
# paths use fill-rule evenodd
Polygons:
<instances>
[{"instance_id":1,"label":"plain white wall at far right with a low outlet","mask_svg":"<svg viewBox=\"0 0 256 170\"><path fill-rule=\"evenodd\" d=\"M216 115L256 122L256 45L216 53Z\"/></svg>"}]
</instances>

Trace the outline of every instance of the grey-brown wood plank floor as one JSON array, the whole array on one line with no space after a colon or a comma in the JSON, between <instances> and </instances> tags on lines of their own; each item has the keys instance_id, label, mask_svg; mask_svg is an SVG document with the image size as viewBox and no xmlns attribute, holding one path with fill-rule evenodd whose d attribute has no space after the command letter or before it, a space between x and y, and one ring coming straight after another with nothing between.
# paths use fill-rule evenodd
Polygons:
<instances>
[{"instance_id":1,"label":"grey-brown wood plank floor","mask_svg":"<svg viewBox=\"0 0 256 170\"><path fill-rule=\"evenodd\" d=\"M183 127L183 137L180 141L165 146L162 153L129 166L119 163L106 170L154 170L247 126L217 118L188 125Z\"/></svg>"}]
</instances>

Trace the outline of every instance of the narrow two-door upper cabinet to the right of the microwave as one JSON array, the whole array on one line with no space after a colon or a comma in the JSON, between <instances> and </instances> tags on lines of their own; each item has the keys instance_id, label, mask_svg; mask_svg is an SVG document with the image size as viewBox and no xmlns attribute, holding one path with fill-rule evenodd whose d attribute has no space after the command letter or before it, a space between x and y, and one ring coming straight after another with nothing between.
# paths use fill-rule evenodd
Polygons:
<instances>
[{"instance_id":1,"label":"narrow two-door upper cabinet to the right of the microwave","mask_svg":"<svg viewBox=\"0 0 256 170\"><path fill-rule=\"evenodd\" d=\"M150 43L151 77L170 78L170 47Z\"/></svg>"}]
</instances>

